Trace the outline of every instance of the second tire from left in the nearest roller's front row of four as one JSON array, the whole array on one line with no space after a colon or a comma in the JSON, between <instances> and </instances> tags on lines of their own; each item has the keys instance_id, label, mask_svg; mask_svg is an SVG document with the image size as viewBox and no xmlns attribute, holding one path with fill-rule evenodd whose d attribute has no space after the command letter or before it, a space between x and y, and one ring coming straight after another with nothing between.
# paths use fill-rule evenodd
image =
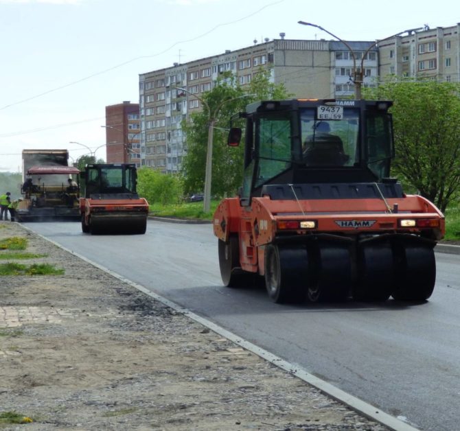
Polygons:
<instances>
[{"instance_id":1,"label":"second tire from left in the nearest roller's front row of four","mask_svg":"<svg viewBox=\"0 0 460 431\"><path fill-rule=\"evenodd\" d=\"M316 275L308 286L310 302L342 302L352 286L352 259L348 246L334 242L318 244L314 252Z\"/></svg>"}]
</instances>

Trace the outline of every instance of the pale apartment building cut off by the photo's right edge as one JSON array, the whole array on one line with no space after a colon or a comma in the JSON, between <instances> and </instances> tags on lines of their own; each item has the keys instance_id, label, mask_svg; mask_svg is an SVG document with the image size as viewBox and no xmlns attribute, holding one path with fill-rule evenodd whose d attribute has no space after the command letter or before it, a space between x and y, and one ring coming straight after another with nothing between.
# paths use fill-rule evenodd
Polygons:
<instances>
[{"instance_id":1,"label":"pale apartment building cut off by the photo's right edge","mask_svg":"<svg viewBox=\"0 0 460 431\"><path fill-rule=\"evenodd\" d=\"M380 76L431 78L459 82L460 23L452 27L409 30L379 44Z\"/></svg>"}]
</instances>

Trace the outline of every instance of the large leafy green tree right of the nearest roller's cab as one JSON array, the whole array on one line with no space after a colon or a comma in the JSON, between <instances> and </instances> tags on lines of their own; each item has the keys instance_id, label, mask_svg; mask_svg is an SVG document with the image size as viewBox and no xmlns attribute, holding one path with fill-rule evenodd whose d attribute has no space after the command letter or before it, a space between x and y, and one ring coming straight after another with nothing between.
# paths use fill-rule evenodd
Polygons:
<instances>
[{"instance_id":1,"label":"large leafy green tree right of the nearest roller's cab","mask_svg":"<svg viewBox=\"0 0 460 431\"><path fill-rule=\"evenodd\" d=\"M393 100L393 173L446 211L460 186L460 85L406 80L366 93Z\"/></svg>"}]
</instances>

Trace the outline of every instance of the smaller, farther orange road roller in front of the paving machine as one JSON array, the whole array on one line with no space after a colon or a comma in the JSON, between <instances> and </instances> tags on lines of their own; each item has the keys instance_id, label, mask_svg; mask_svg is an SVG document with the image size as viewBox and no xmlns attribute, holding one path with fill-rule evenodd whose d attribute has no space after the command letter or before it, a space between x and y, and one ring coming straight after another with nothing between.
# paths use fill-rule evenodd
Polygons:
<instances>
[{"instance_id":1,"label":"smaller, farther orange road roller in front of the paving machine","mask_svg":"<svg viewBox=\"0 0 460 431\"><path fill-rule=\"evenodd\" d=\"M146 233L148 202L136 191L134 163L89 164L80 174L84 233Z\"/></svg>"}]
</instances>

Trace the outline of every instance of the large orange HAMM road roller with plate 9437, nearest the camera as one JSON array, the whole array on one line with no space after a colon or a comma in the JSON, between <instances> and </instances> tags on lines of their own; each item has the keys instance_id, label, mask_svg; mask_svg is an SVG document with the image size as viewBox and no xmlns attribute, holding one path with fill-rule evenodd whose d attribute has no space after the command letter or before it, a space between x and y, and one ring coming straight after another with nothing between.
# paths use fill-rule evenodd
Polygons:
<instances>
[{"instance_id":1,"label":"large orange HAMM road roller with plate 9437, nearest the camera","mask_svg":"<svg viewBox=\"0 0 460 431\"><path fill-rule=\"evenodd\" d=\"M276 303L430 297L444 215L390 177L391 104L266 101L236 116L243 185L214 213L225 286L264 277ZM231 127L229 145L241 136Z\"/></svg>"}]
</instances>

